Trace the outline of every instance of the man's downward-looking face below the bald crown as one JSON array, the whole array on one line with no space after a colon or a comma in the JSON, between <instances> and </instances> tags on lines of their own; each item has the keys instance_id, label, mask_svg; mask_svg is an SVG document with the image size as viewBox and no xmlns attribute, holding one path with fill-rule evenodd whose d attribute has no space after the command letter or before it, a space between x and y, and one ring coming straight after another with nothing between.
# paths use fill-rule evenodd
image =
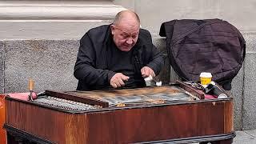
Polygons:
<instances>
[{"instance_id":1,"label":"man's downward-looking face below the bald crown","mask_svg":"<svg viewBox=\"0 0 256 144\"><path fill-rule=\"evenodd\" d=\"M111 25L111 33L113 40L119 50L129 51L133 48L138 40L139 26L138 24L128 25L119 24Z\"/></svg>"}]
</instances>

